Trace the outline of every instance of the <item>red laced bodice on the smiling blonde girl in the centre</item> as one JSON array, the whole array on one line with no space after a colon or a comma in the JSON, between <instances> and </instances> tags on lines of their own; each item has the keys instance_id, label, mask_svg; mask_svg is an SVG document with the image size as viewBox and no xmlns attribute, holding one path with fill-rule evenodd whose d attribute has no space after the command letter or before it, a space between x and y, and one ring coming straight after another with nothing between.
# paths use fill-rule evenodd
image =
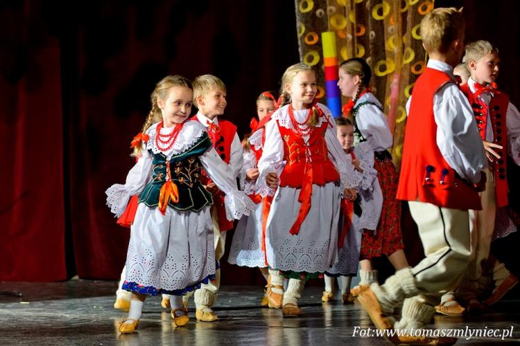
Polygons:
<instances>
[{"instance_id":1,"label":"red laced bodice on the smiling blonde girl in the centre","mask_svg":"<svg viewBox=\"0 0 520 346\"><path fill-rule=\"evenodd\" d=\"M326 183L338 181L340 174L329 160L325 131L329 122L323 122L320 127L311 130L309 143L305 143L300 135L291 129L280 126L277 121L281 138L284 140L284 161L286 165L280 175L280 186L302 188L306 175L306 163L312 166L312 183L324 186Z\"/></svg>"}]
</instances>

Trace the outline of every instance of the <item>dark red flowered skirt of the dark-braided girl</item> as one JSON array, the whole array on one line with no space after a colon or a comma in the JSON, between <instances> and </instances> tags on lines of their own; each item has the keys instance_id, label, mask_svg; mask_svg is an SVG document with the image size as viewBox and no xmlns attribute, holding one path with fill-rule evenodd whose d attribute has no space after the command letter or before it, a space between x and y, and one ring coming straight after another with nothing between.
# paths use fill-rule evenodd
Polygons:
<instances>
[{"instance_id":1,"label":"dark red flowered skirt of the dark-braided girl","mask_svg":"<svg viewBox=\"0 0 520 346\"><path fill-rule=\"evenodd\" d=\"M389 155L383 160L376 158L374 168L383 192L383 210L376 234L371 230L363 232L360 260L370 260L382 255L390 256L404 248L401 234L401 201L395 198L399 174Z\"/></svg>"}]
</instances>

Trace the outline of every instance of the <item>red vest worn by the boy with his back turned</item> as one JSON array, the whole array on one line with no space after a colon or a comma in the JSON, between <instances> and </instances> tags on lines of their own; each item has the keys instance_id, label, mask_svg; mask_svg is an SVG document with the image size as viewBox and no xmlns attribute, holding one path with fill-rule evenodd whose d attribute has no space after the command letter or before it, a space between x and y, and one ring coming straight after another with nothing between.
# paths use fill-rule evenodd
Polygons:
<instances>
[{"instance_id":1,"label":"red vest worn by the boy with his back turned","mask_svg":"<svg viewBox=\"0 0 520 346\"><path fill-rule=\"evenodd\" d=\"M473 184L460 179L437 146L433 96L441 86L452 82L455 83L449 75L431 68L426 68L415 82L404 134L397 199L443 208L481 210Z\"/></svg>"}]
</instances>

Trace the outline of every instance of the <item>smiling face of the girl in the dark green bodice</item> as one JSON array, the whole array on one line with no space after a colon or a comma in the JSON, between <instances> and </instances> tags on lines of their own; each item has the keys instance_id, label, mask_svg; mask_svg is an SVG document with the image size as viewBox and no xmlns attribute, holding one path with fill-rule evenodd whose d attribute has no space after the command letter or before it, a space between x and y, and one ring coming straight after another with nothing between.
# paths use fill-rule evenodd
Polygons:
<instances>
[{"instance_id":1,"label":"smiling face of the girl in the dark green bodice","mask_svg":"<svg viewBox=\"0 0 520 346\"><path fill-rule=\"evenodd\" d=\"M184 86L173 86L166 100L157 98L164 127L180 124L189 117L193 104L193 91Z\"/></svg>"}]
</instances>

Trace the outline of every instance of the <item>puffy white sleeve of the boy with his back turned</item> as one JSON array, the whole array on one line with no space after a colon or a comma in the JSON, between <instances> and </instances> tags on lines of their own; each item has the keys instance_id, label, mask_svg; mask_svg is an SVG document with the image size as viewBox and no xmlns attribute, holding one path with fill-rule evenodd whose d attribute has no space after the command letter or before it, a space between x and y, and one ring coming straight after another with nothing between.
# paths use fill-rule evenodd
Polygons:
<instances>
[{"instance_id":1,"label":"puffy white sleeve of the boy with his back turned","mask_svg":"<svg viewBox=\"0 0 520 346\"><path fill-rule=\"evenodd\" d=\"M487 167L484 146L474 113L465 95L453 83L433 96L433 118L437 124L437 146L448 165L472 183L480 181Z\"/></svg>"}]
</instances>

